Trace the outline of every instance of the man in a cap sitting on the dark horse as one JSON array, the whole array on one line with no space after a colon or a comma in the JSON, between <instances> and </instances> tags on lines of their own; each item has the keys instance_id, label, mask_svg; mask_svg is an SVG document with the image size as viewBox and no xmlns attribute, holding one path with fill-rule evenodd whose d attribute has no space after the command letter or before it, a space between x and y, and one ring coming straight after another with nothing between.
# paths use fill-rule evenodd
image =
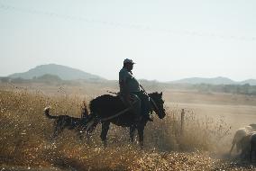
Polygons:
<instances>
[{"instance_id":1,"label":"man in a cap sitting on the dark horse","mask_svg":"<svg viewBox=\"0 0 256 171\"><path fill-rule=\"evenodd\" d=\"M133 105L133 112L136 114L137 120L141 120L142 114L147 114L146 111L149 111L149 97L142 93L140 83L133 76L133 64L135 63L132 59L125 58L123 60L123 68L119 72L120 94L126 105ZM152 121L149 115L146 117Z\"/></svg>"}]
</instances>

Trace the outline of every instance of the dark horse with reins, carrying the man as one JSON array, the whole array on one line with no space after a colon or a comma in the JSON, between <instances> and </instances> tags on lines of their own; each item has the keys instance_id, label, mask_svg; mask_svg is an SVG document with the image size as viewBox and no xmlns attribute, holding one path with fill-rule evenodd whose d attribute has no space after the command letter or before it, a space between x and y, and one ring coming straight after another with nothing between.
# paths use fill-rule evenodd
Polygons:
<instances>
[{"instance_id":1,"label":"dark horse with reins, carrying the man","mask_svg":"<svg viewBox=\"0 0 256 171\"><path fill-rule=\"evenodd\" d=\"M148 94L148 96L150 99L150 109L142 114L142 118L139 121L136 121L136 116L132 109L133 106L130 108L127 107L119 95L104 94L96 97L89 104L90 114L87 120L87 133L90 134L95 130L96 125L101 122L102 130L100 138L106 147L106 136L110 123L117 126L130 127L130 141L133 143L134 132L137 129L142 148L144 127L149 121L148 117L146 117L147 114L154 111L160 119L163 119L166 115L163 107L162 93L154 92Z\"/></svg>"}]
</instances>

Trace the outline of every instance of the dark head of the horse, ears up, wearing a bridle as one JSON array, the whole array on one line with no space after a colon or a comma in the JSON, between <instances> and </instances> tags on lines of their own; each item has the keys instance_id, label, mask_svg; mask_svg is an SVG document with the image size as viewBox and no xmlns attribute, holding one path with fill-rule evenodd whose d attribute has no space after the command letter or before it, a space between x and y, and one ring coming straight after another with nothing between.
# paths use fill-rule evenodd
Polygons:
<instances>
[{"instance_id":1,"label":"dark head of the horse, ears up, wearing a bridle","mask_svg":"<svg viewBox=\"0 0 256 171\"><path fill-rule=\"evenodd\" d=\"M166 115L165 109L163 107L164 101L162 100L162 93L151 93L149 94L151 97L151 105L154 112L157 113L160 119L163 119Z\"/></svg>"}]
</instances>

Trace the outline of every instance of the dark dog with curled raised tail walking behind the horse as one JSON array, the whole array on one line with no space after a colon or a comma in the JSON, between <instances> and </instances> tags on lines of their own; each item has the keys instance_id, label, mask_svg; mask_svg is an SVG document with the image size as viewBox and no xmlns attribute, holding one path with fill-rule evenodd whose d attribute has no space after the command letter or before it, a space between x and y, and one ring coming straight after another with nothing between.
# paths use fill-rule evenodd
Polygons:
<instances>
[{"instance_id":1,"label":"dark dog with curled raised tail walking behind the horse","mask_svg":"<svg viewBox=\"0 0 256 171\"><path fill-rule=\"evenodd\" d=\"M69 115L59 115L59 116L53 116L50 115L50 106L44 108L44 114L49 119L54 119L54 130L53 134L51 136L52 139L57 137L61 131L64 129L68 130L76 130L78 133L79 138L82 138L82 133L85 130L86 124L87 124L87 117L88 117L88 111L86 103L84 103L84 106L82 108L82 114L80 118L72 117Z\"/></svg>"}]
</instances>

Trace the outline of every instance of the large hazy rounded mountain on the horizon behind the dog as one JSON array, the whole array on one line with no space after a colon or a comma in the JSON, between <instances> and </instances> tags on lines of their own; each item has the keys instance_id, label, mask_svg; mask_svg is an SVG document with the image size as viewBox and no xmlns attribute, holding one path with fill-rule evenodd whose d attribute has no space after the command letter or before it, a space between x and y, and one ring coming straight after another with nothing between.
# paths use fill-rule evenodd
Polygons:
<instances>
[{"instance_id":1,"label":"large hazy rounded mountain on the horizon behind the dog","mask_svg":"<svg viewBox=\"0 0 256 171\"><path fill-rule=\"evenodd\" d=\"M79 69L72 67L60 66L56 64L41 65L34 67L24 73L15 73L9 77L21 77L24 79L32 79L43 75L55 75L59 76L63 80L76 80L76 79L87 79L87 80L105 80L105 78L89 74Z\"/></svg>"}]
</instances>

